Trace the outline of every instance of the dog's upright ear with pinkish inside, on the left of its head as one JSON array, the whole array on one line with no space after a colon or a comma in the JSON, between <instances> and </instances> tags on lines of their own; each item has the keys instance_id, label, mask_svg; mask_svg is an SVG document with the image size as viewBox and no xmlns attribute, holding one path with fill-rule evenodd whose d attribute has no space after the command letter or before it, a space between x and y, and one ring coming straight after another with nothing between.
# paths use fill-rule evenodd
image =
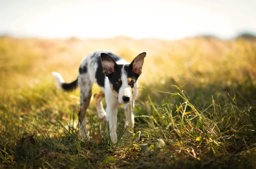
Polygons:
<instances>
[{"instance_id":1,"label":"dog's upright ear with pinkish inside, on the left of its head","mask_svg":"<svg viewBox=\"0 0 256 169\"><path fill-rule=\"evenodd\" d=\"M115 72L115 61L107 54L101 53L101 63L103 68L103 73L108 76L109 74Z\"/></svg>"}]
</instances>

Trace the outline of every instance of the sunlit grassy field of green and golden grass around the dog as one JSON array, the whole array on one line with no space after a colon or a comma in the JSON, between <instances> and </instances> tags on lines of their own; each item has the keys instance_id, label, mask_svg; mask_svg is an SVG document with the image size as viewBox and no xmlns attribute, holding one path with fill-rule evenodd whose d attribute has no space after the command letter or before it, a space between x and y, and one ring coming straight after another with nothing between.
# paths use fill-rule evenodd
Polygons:
<instances>
[{"instance_id":1,"label":"sunlit grassy field of green and golden grass around the dog","mask_svg":"<svg viewBox=\"0 0 256 169\"><path fill-rule=\"evenodd\" d=\"M75 80L98 49L128 61L147 52L135 133L123 135L120 107L116 144L93 100L79 138L79 89L57 90L51 74ZM245 39L0 37L0 168L256 168L255 66L256 41Z\"/></svg>"}]
</instances>

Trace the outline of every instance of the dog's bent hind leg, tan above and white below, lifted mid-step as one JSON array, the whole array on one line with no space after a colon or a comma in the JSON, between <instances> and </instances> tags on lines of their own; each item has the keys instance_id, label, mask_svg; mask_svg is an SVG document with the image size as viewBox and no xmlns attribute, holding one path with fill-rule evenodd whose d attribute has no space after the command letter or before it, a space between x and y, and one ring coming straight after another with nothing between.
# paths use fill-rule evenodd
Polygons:
<instances>
[{"instance_id":1,"label":"dog's bent hind leg, tan above and white below, lifted mid-step","mask_svg":"<svg viewBox=\"0 0 256 169\"><path fill-rule=\"evenodd\" d=\"M105 94L101 91L94 95L94 101L96 104L96 109L98 111L98 116L101 120L106 120L106 111L103 108L102 99L105 97Z\"/></svg>"}]
</instances>

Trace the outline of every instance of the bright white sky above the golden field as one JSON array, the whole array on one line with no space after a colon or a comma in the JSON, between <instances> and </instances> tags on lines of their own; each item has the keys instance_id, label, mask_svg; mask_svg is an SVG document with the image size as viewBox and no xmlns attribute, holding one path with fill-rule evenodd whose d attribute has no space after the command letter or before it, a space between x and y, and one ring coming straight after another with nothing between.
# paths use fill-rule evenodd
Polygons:
<instances>
[{"instance_id":1,"label":"bright white sky above the golden field","mask_svg":"<svg viewBox=\"0 0 256 169\"><path fill-rule=\"evenodd\" d=\"M0 34L222 39L256 33L256 0L0 0Z\"/></svg>"}]
</instances>

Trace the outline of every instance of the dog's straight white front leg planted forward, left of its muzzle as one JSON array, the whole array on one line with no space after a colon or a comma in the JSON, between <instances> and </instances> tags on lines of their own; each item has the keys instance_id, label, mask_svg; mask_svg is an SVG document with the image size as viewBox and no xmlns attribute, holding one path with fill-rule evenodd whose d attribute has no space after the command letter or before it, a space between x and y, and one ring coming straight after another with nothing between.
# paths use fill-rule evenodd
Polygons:
<instances>
[{"instance_id":1,"label":"dog's straight white front leg planted forward, left of its muzzle","mask_svg":"<svg viewBox=\"0 0 256 169\"><path fill-rule=\"evenodd\" d=\"M109 104L106 108L107 122L109 122L110 137L113 143L117 142L116 135L116 119L117 119L117 106L115 104Z\"/></svg>"}]
</instances>

